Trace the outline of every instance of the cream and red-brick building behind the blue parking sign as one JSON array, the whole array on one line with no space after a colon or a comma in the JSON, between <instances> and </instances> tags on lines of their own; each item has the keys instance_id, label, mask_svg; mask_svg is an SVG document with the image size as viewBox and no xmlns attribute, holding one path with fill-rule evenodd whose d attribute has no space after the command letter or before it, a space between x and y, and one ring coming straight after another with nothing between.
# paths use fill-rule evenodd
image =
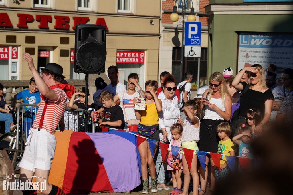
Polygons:
<instances>
[{"instance_id":1,"label":"cream and red-brick building behind the blue parking sign","mask_svg":"<svg viewBox=\"0 0 293 195\"><path fill-rule=\"evenodd\" d=\"M184 21L187 22L187 17L190 14L190 8L194 8L196 22L202 23L201 33L201 56L200 56L200 86L206 85L206 66L207 66L207 46L208 46L208 17L205 13L205 6L209 4L208 0L183 0L186 4L186 16ZM181 64L181 48L182 48L182 0L162 0L161 1L161 40L159 54L159 74L163 71L168 71L176 79L176 83L180 83L183 78L180 78L180 71L183 74L186 71L193 73L191 82L192 89L197 88L197 66L198 58L185 57L183 69L180 70ZM170 15L173 12L173 6L177 6L179 20L172 22Z\"/></svg>"}]
</instances>

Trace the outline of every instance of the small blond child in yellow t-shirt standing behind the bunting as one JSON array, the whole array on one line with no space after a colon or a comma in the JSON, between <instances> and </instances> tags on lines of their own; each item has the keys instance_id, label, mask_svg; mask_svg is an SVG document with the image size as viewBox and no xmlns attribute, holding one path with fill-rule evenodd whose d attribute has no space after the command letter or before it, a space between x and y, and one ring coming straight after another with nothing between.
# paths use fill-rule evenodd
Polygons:
<instances>
[{"instance_id":1,"label":"small blond child in yellow t-shirt standing behind the bunting","mask_svg":"<svg viewBox=\"0 0 293 195\"><path fill-rule=\"evenodd\" d=\"M218 132L219 138L221 139L218 145L218 154L224 154L224 155L221 155L221 161L220 161L221 170L219 170L219 168L216 167L216 181L219 181L220 179L224 179L226 176L228 176L231 173L231 170L228 166L225 155L235 156L235 152L234 152L234 144L229 138L232 132L230 124L228 122L221 122L217 126L217 132Z\"/></svg>"}]
</instances>

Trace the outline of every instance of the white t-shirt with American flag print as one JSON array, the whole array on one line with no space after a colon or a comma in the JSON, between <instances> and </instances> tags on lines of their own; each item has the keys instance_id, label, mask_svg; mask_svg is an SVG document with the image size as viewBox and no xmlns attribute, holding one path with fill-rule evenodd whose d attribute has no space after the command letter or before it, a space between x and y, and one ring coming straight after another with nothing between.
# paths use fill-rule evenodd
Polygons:
<instances>
[{"instance_id":1,"label":"white t-shirt with American flag print","mask_svg":"<svg viewBox=\"0 0 293 195\"><path fill-rule=\"evenodd\" d=\"M123 92L124 92L124 96L123 96ZM120 107L122 108L123 114L124 114L124 121L126 122L126 119L127 120L136 119L135 112L134 112L133 99L134 97L137 97L137 98L140 97L138 91L136 91L133 95L128 95L126 91L121 91L118 93L118 96L120 100ZM127 114L126 118L125 118L125 114Z\"/></svg>"}]
</instances>

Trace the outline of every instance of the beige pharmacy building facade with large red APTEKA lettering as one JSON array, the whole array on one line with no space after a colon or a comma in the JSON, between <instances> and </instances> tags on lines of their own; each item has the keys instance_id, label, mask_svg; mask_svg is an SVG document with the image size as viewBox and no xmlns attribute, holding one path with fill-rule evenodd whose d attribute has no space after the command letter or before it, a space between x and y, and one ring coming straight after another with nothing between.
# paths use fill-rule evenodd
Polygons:
<instances>
[{"instance_id":1,"label":"beige pharmacy building facade with large red APTEKA lettering","mask_svg":"<svg viewBox=\"0 0 293 195\"><path fill-rule=\"evenodd\" d=\"M73 71L76 24L107 27L105 69L116 65L122 83L132 72L142 86L158 77L160 1L0 0L0 21L0 80L31 78L24 52L38 71L54 62L65 79L83 79Z\"/></svg>"}]
</instances>

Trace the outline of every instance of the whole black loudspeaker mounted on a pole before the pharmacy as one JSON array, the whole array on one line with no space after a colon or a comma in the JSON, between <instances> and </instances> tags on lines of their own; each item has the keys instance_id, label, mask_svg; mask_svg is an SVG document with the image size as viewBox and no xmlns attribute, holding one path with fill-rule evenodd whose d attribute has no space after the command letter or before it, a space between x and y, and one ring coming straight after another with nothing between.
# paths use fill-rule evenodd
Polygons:
<instances>
[{"instance_id":1,"label":"whole black loudspeaker mounted on a pole before the pharmacy","mask_svg":"<svg viewBox=\"0 0 293 195\"><path fill-rule=\"evenodd\" d=\"M106 26L78 24L75 26L74 72L100 74L105 72Z\"/></svg>"}]
</instances>

